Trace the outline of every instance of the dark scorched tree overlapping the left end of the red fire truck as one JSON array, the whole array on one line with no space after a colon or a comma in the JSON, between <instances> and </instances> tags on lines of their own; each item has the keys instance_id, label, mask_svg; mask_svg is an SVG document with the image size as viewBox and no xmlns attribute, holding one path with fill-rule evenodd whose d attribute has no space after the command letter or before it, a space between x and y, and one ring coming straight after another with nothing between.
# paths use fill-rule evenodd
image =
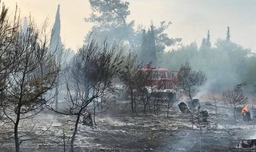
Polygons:
<instances>
[{"instance_id":1,"label":"dark scorched tree overlapping the left end of the red fire truck","mask_svg":"<svg viewBox=\"0 0 256 152\"><path fill-rule=\"evenodd\" d=\"M142 70L137 55L129 52L125 57L124 68L121 72L121 80L125 84L131 97L131 112L136 113L136 97L141 97L144 104L144 114L147 115L146 107L157 86L152 84L154 74L152 71ZM150 91L149 91L150 90Z\"/></svg>"}]
</instances>

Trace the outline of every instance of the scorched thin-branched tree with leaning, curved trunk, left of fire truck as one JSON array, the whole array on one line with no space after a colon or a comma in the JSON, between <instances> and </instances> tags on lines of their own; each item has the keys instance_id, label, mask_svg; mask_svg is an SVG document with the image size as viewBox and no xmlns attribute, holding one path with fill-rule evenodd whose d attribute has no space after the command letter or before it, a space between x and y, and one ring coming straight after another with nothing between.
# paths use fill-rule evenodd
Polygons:
<instances>
[{"instance_id":1,"label":"scorched thin-branched tree with leaning, curved trunk, left of fire truck","mask_svg":"<svg viewBox=\"0 0 256 152\"><path fill-rule=\"evenodd\" d=\"M72 152L80 117L86 117L89 104L93 100L112 93L112 80L118 77L122 59L122 50L118 49L118 46L109 46L106 42L100 46L95 40L91 40L79 49L70 62L69 74L66 77L66 88L69 95L66 99L68 108L63 112L57 111L53 106L50 109L64 115L76 116L70 140ZM88 114L91 116L90 113Z\"/></svg>"}]
</instances>

